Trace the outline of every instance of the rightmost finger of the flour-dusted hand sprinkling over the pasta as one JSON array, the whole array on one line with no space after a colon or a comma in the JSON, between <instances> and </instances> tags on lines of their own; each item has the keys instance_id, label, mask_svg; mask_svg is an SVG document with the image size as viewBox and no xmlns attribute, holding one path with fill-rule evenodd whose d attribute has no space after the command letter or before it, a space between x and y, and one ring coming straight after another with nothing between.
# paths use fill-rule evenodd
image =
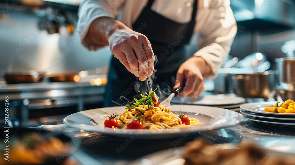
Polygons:
<instances>
[{"instance_id":1,"label":"rightmost finger of the flour-dusted hand sprinkling over the pasta","mask_svg":"<svg viewBox=\"0 0 295 165\"><path fill-rule=\"evenodd\" d=\"M145 55L148 58L148 77L150 77L154 71L155 55L148 38L146 36L143 36L141 40L142 47L145 50Z\"/></svg>"}]
</instances>

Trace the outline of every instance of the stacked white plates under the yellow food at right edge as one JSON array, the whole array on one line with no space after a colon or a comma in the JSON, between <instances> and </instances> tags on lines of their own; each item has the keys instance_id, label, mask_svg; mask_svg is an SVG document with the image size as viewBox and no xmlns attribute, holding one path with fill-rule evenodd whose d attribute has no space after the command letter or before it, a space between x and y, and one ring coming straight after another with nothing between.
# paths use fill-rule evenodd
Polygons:
<instances>
[{"instance_id":1,"label":"stacked white plates under the yellow food at right edge","mask_svg":"<svg viewBox=\"0 0 295 165\"><path fill-rule=\"evenodd\" d=\"M264 111L265 107L275 105L276 101L255 102L241 105L241 113L246 119L263 124L295 128L295 113L274 113Z\"/></svg>"}]
</instances>

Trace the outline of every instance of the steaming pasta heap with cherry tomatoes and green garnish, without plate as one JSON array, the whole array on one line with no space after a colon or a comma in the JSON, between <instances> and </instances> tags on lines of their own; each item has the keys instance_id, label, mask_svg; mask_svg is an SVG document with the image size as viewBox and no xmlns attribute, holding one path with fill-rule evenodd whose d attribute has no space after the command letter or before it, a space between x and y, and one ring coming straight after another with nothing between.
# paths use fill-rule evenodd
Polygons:
<instances>
[{"instance_id":1,"label":"steaming pasta heap with cherry tomatoes and green garnish, without plate","mask_svg":"<svg viewBox=\"0 0 295 165\"><path fill-rule=\"evenodd\" d=\"M156 89L155 89L156 90ZM127 129L171 129L187 128L204 125L196 118L188 118L181 114L173 114L168 107L160 105L155 90L142 95L140 100L128 102L125 112L120 115L111 115L101 126L109 128Z\"/></svg>"}]
</instances>

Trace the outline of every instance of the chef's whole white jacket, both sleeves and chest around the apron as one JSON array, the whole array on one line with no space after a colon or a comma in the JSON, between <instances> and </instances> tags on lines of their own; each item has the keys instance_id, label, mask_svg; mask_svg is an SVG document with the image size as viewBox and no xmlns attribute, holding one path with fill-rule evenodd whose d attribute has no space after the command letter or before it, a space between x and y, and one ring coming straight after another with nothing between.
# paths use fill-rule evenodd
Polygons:
<instances>
[{"instance_id":1,"label":"chef's whole white jacket, both sleeves and chest around the apron","mask_svg":"<svg viewBox=\"0 0 295 165\"><path fill-rule=\"evenodd\" d=\"M78 11L77 31L82 44L89 50L97 50L99 45L87 38L90 24L99 17L117 18L132 29L148 0L84 0ZM191 20L194 0L154 0L151 9L178 23ZM159 25L161 26L161 25ZM237 24L230 8L229 0L198 0L194 33L199 33L198 48L194 56L202 57L212 68L213 78L230 52L237 32Z\"/></svg>"}]
</instances>

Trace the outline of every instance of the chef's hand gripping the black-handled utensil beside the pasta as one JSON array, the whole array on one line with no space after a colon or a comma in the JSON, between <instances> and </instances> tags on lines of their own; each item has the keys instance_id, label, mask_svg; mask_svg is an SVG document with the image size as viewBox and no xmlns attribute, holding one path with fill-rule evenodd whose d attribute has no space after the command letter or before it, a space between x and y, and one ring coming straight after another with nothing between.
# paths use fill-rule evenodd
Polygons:
<instances>
[{"instance_id":1,"label":"chef's hand gripping the black-handled utensil beside the pasta","mask_svg":"<svg viewBox=\"0 0 295 165\"><path fill-rule=\"evenodd\" d=\"M173 89L180 87L184 80L186 80L186 86L177 97L197 98L204 90L203 75L211 72L211 67L202 57L191 57L183 62L177 71Z\"/></svg>"}]
</instances>

